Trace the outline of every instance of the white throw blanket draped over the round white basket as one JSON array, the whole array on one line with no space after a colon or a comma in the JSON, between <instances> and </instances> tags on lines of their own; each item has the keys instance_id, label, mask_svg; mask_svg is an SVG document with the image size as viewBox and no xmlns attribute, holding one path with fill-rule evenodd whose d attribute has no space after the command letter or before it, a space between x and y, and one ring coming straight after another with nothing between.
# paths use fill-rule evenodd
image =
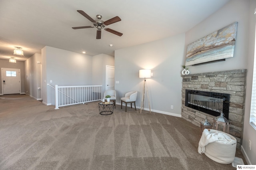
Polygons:
<instances>
[{"instance_id":1,"label":"white throw blanket draped over the round white basket","mask_svg":"<svg viewBox=\"0 0 256 170\"><path fill-rule=\"evenodd\" d=\"M200 141L198 143L198 153L202 154L205 152L205 146L209 143L219 141L223 144L234 142L228 135L220 132L210 133L208 129L204 129Z\"/></svg>"}]
</instances>

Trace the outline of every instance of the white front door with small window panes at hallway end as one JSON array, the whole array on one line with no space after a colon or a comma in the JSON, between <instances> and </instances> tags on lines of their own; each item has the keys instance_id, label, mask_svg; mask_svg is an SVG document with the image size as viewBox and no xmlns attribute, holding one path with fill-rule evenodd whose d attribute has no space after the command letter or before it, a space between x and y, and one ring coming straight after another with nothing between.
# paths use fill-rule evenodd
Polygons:
<instances>
[{"instance_id":1,"label":"white front door with small window panes at hallway end","mask_svg":"<svg viewBox=\"0 0 256 170\"><path fill-rule=\"evenodd\" d=\"M20 93L20 69L2 68L3 94Z\"/></svg>"}]
</instances>

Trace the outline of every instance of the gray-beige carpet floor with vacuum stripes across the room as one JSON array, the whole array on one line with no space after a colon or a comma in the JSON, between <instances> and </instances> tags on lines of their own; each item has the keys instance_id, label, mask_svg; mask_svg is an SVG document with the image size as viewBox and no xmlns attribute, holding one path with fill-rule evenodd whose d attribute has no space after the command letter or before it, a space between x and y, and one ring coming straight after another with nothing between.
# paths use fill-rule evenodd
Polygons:
<instances>
[{"instance_id":1,"label":"gray-beige carpet floor with vacuum stripes across the room","mask_svg":"<svg viewBox=\"0 0 256 170\"><path fill-rule=\"evenodd\" d=\"M0 96L1 170L236 169L198 154L199 133L182 118L120 105L100 115L98 102L54 109Z\"/></svg>"}]
</instances>

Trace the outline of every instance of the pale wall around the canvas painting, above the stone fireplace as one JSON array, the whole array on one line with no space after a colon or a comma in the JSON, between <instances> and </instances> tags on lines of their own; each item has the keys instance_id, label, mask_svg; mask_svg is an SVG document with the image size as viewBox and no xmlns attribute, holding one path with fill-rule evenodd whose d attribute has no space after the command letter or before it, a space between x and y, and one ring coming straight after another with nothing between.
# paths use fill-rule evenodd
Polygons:
<instances>
[{"instance_id":1,"label":"pale wall around the canvas painting, above the stone fireplace","mask_svg":"<svg viewBox=\"0 0 256 170\"><path fill-rule=\"evenodd\" d=\"M186 32L185 45L187 47L188 44L207 36L212 32L228 26L233 22L238 22L234 57L218 63L188 66L190 74L246 68L249 25L248 4L248 0L231 0L216 13L212 14L206 20L200 22L200 24Z\"/></svg>"}]
</instances>

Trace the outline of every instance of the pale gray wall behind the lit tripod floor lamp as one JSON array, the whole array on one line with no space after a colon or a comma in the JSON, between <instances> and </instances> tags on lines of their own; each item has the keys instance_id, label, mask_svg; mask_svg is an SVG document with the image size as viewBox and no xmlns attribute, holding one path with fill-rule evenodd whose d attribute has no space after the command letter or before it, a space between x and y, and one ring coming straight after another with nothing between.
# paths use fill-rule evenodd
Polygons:
<instances>
[{"instance_id":1,"label":"pale gray wall behind the lit tripod floor lamp","mask_svg":"<svg viewBox=\"0 0 256 170\"><path fill-rule=\"evenodd\" d=\"M147 79L147 85L152 111L180 117L184 42L185 34L180 34L116 50L116 102L121 103L125 93L136 90L136 106L140 107L144 79L139 78L139 70L151 69L153 76ZM149 109L147 100L144 107Z\"/></svg>"}]
</instances>

